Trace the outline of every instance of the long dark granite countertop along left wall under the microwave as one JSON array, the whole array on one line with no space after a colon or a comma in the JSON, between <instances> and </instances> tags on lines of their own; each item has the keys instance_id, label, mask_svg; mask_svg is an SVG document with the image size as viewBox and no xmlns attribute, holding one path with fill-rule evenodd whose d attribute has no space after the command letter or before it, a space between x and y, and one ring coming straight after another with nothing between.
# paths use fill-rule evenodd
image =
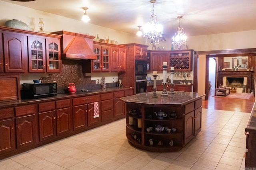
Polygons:
<instances>
[{"instance_id":1,"label":"long dark granite countertop along left wall under the microwave","mask_svg":"<svg viewBox=\"0 0 256 170\"><path fill-rule=\"evenodd\" d=\"M128 89L133 89L130 87L123 87L123 88L106 88L106 90L102 89L95 89L91 90L91 92L82 92L82 91L77 91L74 94L58 94L57 96L52 96L52 97L47 97L47 98L38 98L38 99L26 99L26 100L12 100L12 101L6 101L6 102L0 102L0 108L2 107L15 107L18 105L23 105L23 104L34 104L38 102L49 102L52 100L59 100L59 99L68 99L68 98L74 98L74 97L82 97L82 96L89 96L89 95L96 95L96 94L102 94L102 93L107 93L107 92L114 92L114 91L119 91L119 90L128 90Z\"/></svg>"}]
</instances>

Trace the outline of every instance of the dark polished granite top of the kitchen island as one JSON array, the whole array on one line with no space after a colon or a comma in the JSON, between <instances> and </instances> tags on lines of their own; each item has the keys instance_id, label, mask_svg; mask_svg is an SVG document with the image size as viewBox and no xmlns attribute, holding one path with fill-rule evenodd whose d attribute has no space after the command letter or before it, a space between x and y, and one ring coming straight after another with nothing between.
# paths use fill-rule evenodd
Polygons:
<instances>
[{"instance_id":1,"label":"dark polished granite top of the kitchen island","mask_svg":"<svg viewBox=\"0 0 256 170\"><path fill-rule=\"evenodd\" d=\"M140 93L133 96L120 98L126 103L138 103L149 105L186 105L190 102L198 100L205 96L205 94L198 94L195 92L180 92L175 91L175 94L170 94L168 97L161 96L162 91L156 91L158 98L152 98L153 92Z\"/></svg>"}]
</instances>

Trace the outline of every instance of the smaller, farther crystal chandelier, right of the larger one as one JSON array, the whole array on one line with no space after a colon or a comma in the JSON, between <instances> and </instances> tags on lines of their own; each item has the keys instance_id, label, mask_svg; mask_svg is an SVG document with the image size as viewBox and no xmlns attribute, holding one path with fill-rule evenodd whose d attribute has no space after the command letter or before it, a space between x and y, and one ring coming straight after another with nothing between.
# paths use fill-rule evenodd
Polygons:
<instances>
[{"instance_id":1,"label":"smaller, farther crystal chandelier, right of the larger one","mask_svg":"<svg viewBox=\"0 0 256 170\"><path fill-rule=\"evenodd\" d=\"M177 18L182 18L182 16L178 16ZM184 46L187 42L187 36L186 34L183 32L183 28L178 27L177 29L177 33L175 33L175 35L172 37L172 44L173 45L177 45L178 46L178 50L182 49L182 45Z\"/></svg>"}]
</instances>

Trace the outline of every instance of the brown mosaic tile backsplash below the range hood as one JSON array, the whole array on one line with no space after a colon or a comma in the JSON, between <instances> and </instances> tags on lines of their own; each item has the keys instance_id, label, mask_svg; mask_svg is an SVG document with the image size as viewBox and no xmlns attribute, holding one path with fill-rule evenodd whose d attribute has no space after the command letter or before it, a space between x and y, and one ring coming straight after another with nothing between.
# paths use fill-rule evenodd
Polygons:
<instances>
[{"instance_id":1,"label":"brown mosaic tile backsplash below the range hood","mask_svg":"<svg viewBox=\"0 0 256 170\"><path fill-rule=\"evenodd\" d=\"M82 72L82 64L84 62L90 62L90 60L62 60L62 72L49 74L49 77L43 78L42 82L56 81L58 93L66 93L70 82L76 85L77 91L100 89L100 84L96 84L95 80L91 80L90 76L85 76L85 73ZM106 84L106 88L111 87L116 87L116 82Z\"/></svg>"}]
</instances>

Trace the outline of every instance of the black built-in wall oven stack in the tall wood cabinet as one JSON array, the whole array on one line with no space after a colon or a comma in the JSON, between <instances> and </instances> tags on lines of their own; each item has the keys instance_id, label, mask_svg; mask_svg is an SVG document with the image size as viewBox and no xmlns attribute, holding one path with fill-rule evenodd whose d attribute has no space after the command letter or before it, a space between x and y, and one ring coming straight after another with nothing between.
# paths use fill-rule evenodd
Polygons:
<instances>
[{"instance_id":1,"label":"black built-in wall oven stack in the tall wood cabinet","mask_svg":"<svg viewBox=\"0 0 256 170\"><path fill-rule=\"evenodd\" d=\"M135 92L147 92L147 61L135 60Z\"/></svg>"}]
</instances>

